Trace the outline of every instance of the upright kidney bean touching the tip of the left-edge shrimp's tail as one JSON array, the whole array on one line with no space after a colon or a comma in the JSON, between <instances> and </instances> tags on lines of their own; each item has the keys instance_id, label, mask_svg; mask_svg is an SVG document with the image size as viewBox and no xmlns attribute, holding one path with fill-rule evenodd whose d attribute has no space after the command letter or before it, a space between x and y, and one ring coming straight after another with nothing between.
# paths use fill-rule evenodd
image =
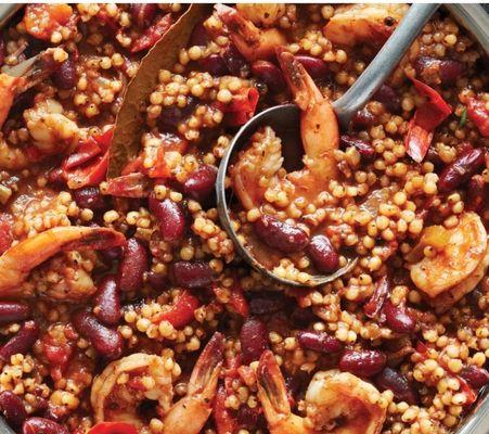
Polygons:
<instances>
[{"instance_id":1,"label":"upright kidney bean touching the tip of the left-edge shrimp's tail","mask_svg":"<svg viewBox=\"0 0 489 434\"><path fill-rule=\"evenodd\" d=\"M124 292L137 291L143 283L143 275L147 271L149 258L144 244L136 238L127 241L119 264L119 288Z\"/></svg>"}]
</instances>

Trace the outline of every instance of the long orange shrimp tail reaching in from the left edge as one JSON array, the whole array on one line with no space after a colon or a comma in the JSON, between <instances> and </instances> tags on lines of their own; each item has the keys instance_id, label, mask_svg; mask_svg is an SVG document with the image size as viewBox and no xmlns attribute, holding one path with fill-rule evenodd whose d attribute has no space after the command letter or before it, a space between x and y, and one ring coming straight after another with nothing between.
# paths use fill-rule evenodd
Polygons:
<instances>
[{"instance_id":1,"label":"long orange shrimp tail reaching in from the left edge","mask_svg":"<svg viewBox=\"0 0 489 434\"><path fill-rule=\"evenodd\" d=\"M29 272L61 251L99 250L124 245L120 232L108 228L56 227L21 241L0 256L0 297L25 296Z\"/></svg>"}]
</instances>

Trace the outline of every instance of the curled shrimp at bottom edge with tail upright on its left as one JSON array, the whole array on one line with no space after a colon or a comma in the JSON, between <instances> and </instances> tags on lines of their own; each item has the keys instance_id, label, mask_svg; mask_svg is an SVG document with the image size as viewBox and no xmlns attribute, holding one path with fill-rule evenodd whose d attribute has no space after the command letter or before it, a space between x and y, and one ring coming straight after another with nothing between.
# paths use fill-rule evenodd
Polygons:
<instances>
[{"instance_id":1,"label":"curled shrimp at bottom edge with tail upright on its left","mask_svg":"<svg viewBox=\"0 0 489 434\"><path fill-rule=\"evenodd\" d=\"M257 384L272 434L378 434L386 418L372 384L336 369L312 378L305 396L307 418L292 413L285 381L270 350L260 357Z\"/></svg>"}]
</instances>

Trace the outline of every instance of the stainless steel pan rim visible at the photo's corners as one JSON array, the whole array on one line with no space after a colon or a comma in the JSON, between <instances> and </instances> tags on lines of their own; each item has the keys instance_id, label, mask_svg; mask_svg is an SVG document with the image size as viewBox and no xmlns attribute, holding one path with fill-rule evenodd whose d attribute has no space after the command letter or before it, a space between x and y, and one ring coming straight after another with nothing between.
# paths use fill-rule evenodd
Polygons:
<instances>
[{"instance_id":1,"label":"stainless steel pan rim visible at the photo's corners","mask_svg":"<svg viewBox=\"0 0 489 434\"><path fill-rule=\"evenodd\" d=\"M0 28L22 8L22 4L0 4ZM489 15L480 4L446 4L446 8L478 40L489 54ZM0 418L0 434L15 434ZM489 434L489 387L486 387L466 416L456 434Z\"/></svg>"}]
</instances>

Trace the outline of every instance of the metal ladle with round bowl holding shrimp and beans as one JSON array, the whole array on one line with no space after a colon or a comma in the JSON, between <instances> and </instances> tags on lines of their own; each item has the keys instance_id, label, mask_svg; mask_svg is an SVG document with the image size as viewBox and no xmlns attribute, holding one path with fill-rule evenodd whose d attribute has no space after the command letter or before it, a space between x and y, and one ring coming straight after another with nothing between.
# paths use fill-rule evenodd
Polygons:
<instances>
[{"instance_id":1,"label":"metal ladle with round bowl holding shrimp and beans","mask_svg":"<svg viewBox=\"0 0 489 434\"><path fill-rule=\"evenodd\" d=\"M438 9L439 4L413 4L406 13L404 17L397 26L390 38L385 42L375 59L370 63L369 67L358 78L351 88L338 100L333 103L334 111L338 118L338 123L344 129L348 129L352 116L360 110L378 90L383 82L390 75L393 69L410 48L411 43L416 38L423 26ZM219 166L219 171L216 181L217 192L217 208L222 226L233 240L237 252L241 256L254 268L263 272L268 277L294 286L316 286L331 282L338 277L350 271L357 264L356 259L350 259L349 263L338 269L336 272L329 276L312 276L307 283L298 283L288 279L283 279L275 276L271 270L263 267L257 259L253 257L239 241L237 233L234 231L228 202L226 199L226 175L232 155L248 143L250 136L262 125L270 125L274 130L282 132L284 129L288 130L287 136L295 135L299 130L299 110L294 104L279 105L268 108L248 123L246 123L240 131L234 136L230 146L228 148ZM292 128L291 128L292 127ZM282 135L284 136L284 135Z\"/></svg>"}]
</instances>

